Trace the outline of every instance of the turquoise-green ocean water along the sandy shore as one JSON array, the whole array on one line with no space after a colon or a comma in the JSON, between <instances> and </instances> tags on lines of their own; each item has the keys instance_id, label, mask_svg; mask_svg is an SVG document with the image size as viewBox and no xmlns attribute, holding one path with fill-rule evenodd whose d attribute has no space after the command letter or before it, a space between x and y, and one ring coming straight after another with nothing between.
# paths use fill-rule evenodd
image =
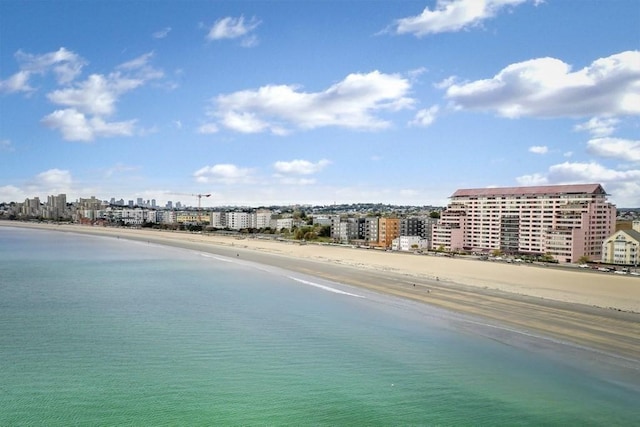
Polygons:
<instances>
[{"instance_id":1,"label":"turquoise-green ocean water along the sandy shore","mask_svg":"<svg viewBox=\"0 0 640 427\"><path fill-rule=\"evenodd\" d=\"M637 425L638 361L240 259L0 227L0 425Z\"/></svg>"}]
</instances>

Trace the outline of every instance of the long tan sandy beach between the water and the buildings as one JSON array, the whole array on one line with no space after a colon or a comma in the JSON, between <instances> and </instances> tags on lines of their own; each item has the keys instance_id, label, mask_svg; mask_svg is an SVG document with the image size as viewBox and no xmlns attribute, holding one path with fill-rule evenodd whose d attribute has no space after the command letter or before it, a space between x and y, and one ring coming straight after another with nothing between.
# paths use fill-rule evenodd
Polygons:
<instances>
[{"instance_id":1,"label":"long tan sandy beach between the water and the buildings","mask_svg":"<svg viewBox=\"0 0 640 427\"><path fill-rule=\"evenodd\" d=\"M640 277L222 235L0 222L241 257L640 361Z\"/></svg>"}]
</instances>

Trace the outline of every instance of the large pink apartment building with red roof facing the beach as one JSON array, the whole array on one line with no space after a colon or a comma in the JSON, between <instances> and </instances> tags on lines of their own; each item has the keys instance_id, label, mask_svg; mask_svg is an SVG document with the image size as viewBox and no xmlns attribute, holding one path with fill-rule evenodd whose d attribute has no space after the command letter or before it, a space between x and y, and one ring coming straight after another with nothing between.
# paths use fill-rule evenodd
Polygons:
<instances>
[{"instance_id":1,"label":"large pink apartment building with red roof facing the beach","mask_svg":"<svg viewBox=\"0 0 640 427\"><path fill-rule=\"evenodd\" d=\"M600 184L462 189L433 227L432 247L600 260L615 221Z\"/></svg>"}]
</instances>

